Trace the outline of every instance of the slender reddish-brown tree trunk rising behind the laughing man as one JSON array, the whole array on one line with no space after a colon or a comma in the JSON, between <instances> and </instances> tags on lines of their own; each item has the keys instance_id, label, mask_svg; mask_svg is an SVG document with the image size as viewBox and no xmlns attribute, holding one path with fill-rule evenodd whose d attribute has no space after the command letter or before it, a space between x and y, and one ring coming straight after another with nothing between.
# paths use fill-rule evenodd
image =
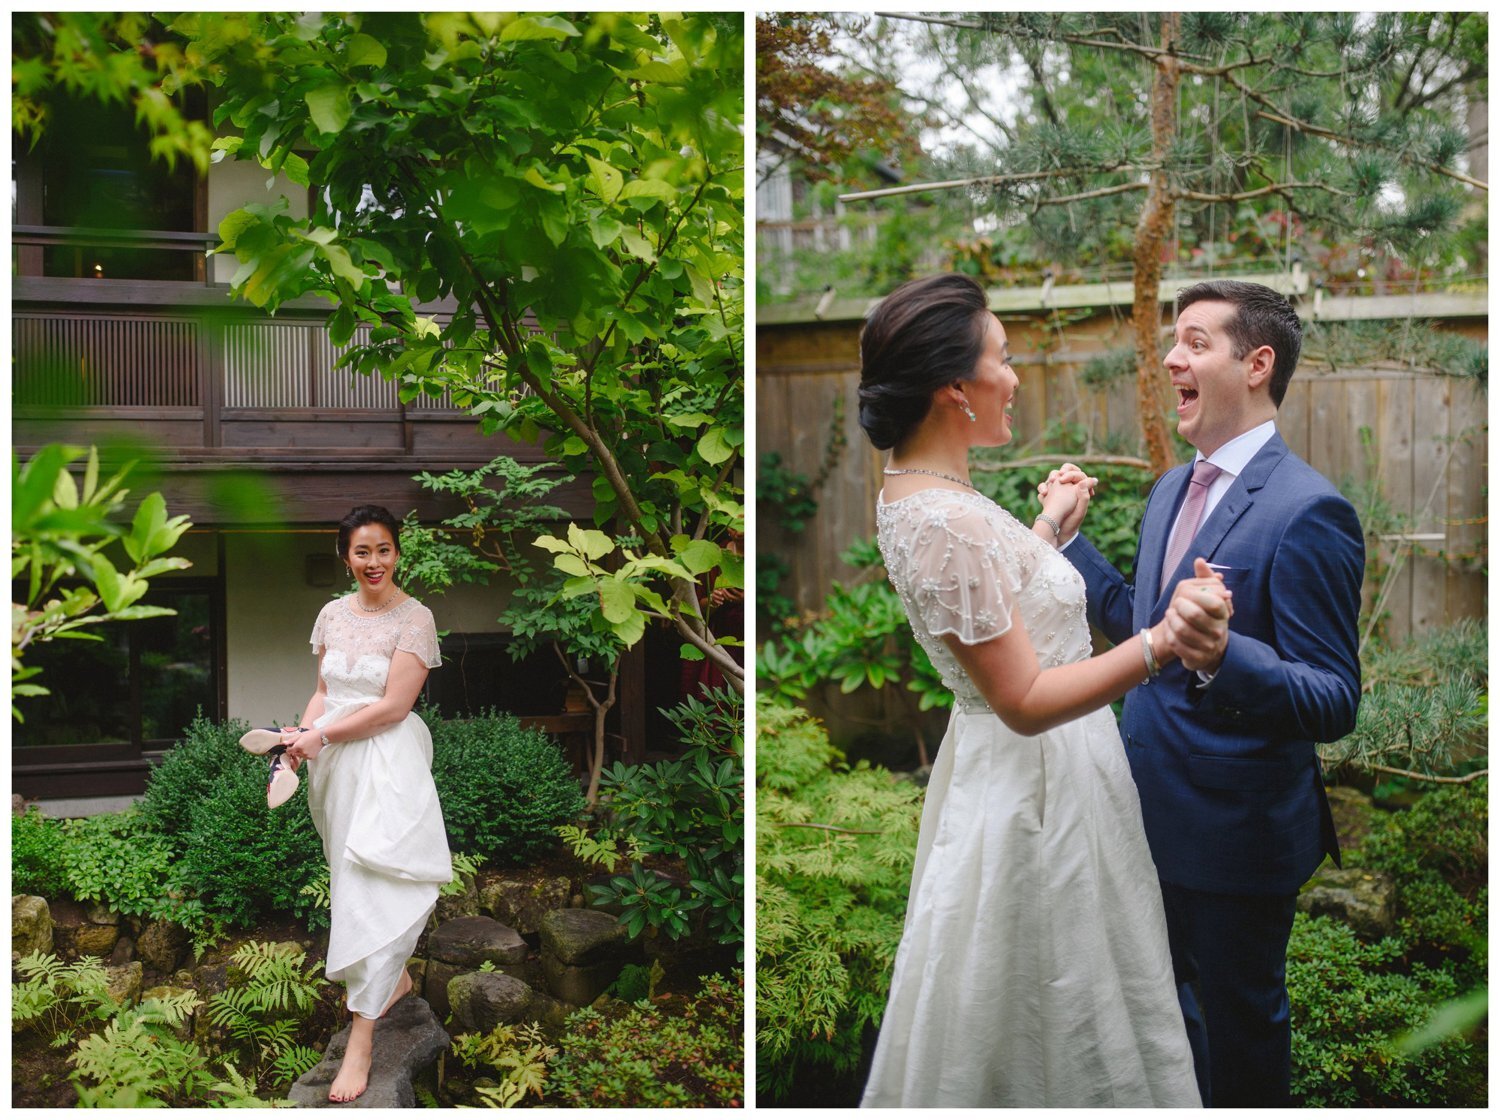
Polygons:
<instances>
[{"instance_id":1,"label":"slender reddish-brown tree trunk rising behind the laughing man","mask_svg":"<svg viewBox=\"0 0 1500 1120\"><path fill-rule=\"evenodd\" d=\"M1136 225L1136 303L1131 321L1136 325L1136 399L1140 406L1142 432L1146 436L1146 457L1156 475L1174 465L1172 436L1162 406L1170 399L1172 382L1161 364L1158 342L1161 327L1161 256L1172 234L1176 196L1167 178L1167 151L1178 130L1178 58L1179 18L1174 12L1161 16L1161 49L1150 78L1150 154L1156 169L1150 172L1146 205Z\"/></svg>"}]
</instances>

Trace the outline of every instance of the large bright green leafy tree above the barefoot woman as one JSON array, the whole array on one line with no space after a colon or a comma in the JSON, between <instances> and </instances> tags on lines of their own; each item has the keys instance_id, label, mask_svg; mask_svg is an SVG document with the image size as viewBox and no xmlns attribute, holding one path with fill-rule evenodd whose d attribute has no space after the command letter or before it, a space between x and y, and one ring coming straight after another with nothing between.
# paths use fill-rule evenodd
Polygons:
<instances>
[{"instance_id":1,"label":"large bright green leafy tree above the barefoot woman","mask_svg":"<svg viewBox=\"0 0 1500 1120\"><path fill-rule=\"evenodd\" d=\"M326 295L354 369L592 474L614 535L570 532L566 594L624 645L664 619L742 687L696 597L712 568L742 586L718 544L744 520L740 15L170 27L218 85L220 153L314 189L304 220L282 202L220 223L236 294Z\"/></svg>"}]
</instances>

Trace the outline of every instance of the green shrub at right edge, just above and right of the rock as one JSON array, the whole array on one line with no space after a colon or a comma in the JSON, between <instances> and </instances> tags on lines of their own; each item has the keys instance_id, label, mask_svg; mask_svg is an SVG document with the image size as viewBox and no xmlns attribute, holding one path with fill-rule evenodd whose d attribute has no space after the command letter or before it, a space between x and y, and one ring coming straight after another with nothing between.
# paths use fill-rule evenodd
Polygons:
<instances>
[{"instance_id":1,"label":"green shrub at right edge, just above and right of the rock","mask_svg":"<svg viewBox=\"0 0 1500 1120\"><path fill-rule=\"evenodd\" d=\"M1360 846L1362 865L1396 880L1401 936L1448 955L1462 985L1484 984L1490 925L1490 783L1426 793L1384 816Z\"/></svg>"}]
</instances>

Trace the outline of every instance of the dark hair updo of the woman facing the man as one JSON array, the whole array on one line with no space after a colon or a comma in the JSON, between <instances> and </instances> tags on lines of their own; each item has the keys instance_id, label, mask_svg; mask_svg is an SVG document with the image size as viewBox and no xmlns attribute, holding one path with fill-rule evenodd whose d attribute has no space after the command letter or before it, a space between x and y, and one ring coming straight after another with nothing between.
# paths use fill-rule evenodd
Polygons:
<instances>
[{"instance_id":1,"label":"dark hair updo of the woman facing the man","mask_svg":"<svg viewBox=\"0 0 1500 1120\"><path fill-rule=\"evenodd\" d=\"M990 303L975 280L946 273L908 280L860 331L860 427L885 451L932 408L933 393L972 381Z\"/></svg>"}]
</instances>

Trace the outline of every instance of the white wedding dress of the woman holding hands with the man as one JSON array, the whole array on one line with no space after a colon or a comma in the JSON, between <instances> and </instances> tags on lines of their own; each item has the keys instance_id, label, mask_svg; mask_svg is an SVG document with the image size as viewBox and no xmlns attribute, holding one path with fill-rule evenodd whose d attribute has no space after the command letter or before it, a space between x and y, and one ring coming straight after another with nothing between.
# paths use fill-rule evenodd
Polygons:
<instances>
[{"instance_id":1,"label":"white wedding dress of the woman holding hands with the man","mask_svg":"<svg viewBox=\"0 0 1500 1120\"><path fill-rule=\"evenodd\" d=\"M866 1107L1198 1107L1156 870L1101 709L1010 730L942 634L1018 616L1042 669L1089 657L1083 579L976 493L876 513L885 567L954 693Z\"/></svg>"}]
</instances>

